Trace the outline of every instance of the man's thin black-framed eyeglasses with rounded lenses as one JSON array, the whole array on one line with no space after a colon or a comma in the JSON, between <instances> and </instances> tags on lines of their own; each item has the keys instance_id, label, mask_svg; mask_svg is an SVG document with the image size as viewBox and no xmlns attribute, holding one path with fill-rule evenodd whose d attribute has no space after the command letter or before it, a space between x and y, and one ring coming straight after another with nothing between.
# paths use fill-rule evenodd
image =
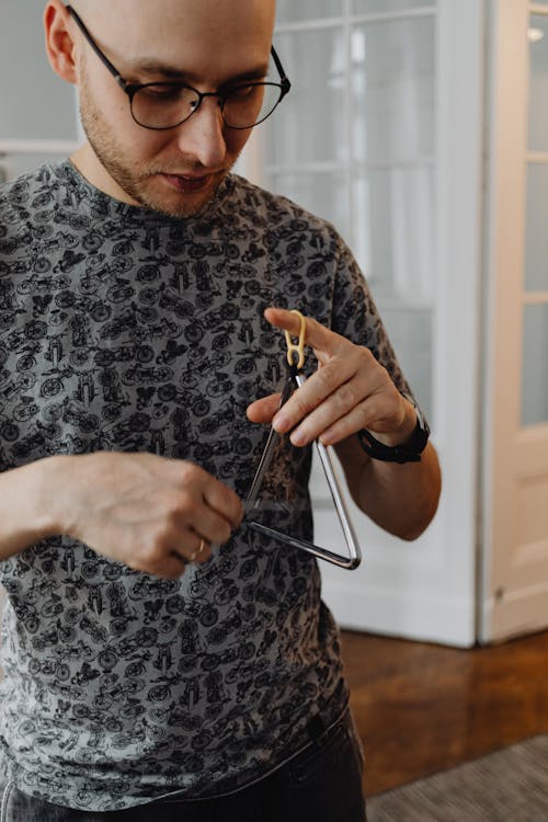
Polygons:
<instances>
[{"instance_id":1,"label":"man's thin black-framed eyeglasses with rounded lenses","mask_svg":"<svg viewBox=\"0 0 548 822\"><path fill-rule=\"evenodd\" d=\"M292 88L274 46L271 55L279 82L253 80L217 91L198 91L187 83L172 80L128 83L100 49L75 9L71 5L66 8L101 62L129 98L132 116L144 128L157 132L175 128L197 112L205 98L218 98L222 121L229 128L252 128L270 117Z\"/></svg>"}]
</instances>

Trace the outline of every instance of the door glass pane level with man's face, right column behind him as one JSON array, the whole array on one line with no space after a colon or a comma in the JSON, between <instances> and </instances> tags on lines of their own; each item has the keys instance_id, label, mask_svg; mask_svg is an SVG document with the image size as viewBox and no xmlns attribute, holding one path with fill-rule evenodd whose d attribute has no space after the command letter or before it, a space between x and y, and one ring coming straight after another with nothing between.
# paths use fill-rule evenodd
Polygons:
<instances>
[{"instance_id":1,"label":"door glass pane level with man's face, right column behind him","mask_svg":"<svg viewBox=\"0 0 548 822\"><path fill-rule=\"evenodd\" d=\"M435 21L358 25L352 33L353 139L357 160L435 150Z\"/></svg>"}]
</instances>

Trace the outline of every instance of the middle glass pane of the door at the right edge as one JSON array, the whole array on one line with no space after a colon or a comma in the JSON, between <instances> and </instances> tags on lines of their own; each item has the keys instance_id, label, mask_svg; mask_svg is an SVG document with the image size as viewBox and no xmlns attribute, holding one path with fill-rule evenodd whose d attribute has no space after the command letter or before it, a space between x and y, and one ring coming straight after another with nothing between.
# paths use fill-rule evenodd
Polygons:
<instances>
[{"instance_id":1,"label":"middle glass pane of the door at the right edge","mask_svg":"<svg viewBox=\"0 0 548 822\"><path fill-rule=\"evenodd\" d=\"M525 246L525 288L548 292L548 165L527 169L527 221Z\"/></svg>"}]
</instances>

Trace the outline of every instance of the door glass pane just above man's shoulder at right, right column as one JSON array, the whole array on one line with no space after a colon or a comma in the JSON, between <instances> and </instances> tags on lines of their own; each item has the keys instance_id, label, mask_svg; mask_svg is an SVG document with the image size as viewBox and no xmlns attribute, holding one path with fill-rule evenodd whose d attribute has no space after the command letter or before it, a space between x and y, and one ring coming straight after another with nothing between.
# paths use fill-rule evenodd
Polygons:
<instances>
[{"instance_id":1,"label":"door glass pane just above man's shoulder at right, right column","mask_svg":"<svg viewBox=\"0 0 548 822\"><path fill-rule=\"evenodd\" d=\"M432 302L435 284L435 170L358 174L353 247L378 298Z\"/></svg>"}]
</instances>

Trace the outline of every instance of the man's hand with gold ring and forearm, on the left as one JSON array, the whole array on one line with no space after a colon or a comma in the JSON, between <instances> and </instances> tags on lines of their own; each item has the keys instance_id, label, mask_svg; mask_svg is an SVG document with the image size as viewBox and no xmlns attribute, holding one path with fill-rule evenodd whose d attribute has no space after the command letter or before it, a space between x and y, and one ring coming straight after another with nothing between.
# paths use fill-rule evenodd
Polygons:
<instances>
[{"instance_id":1,"label":"man's hand with gold ring and forearm, on the left","mask_svg":"<svg viewBox=\"0 0 548 822\"><path fill-rule=\"evenodd\" d=\"M43 463L44 467L48 464L49 492L45 481L38 483L37 502L38 510L42 504L49 512L39 514L34 509L37 522L47 522L47 526L42 533L39 526L30 528L33 537L62 534L145 573L181 576L204 543L195 561L209 558L212 543L228 541L243 516L237 494L193 463L118 452L52 457ZM2 483L9 488L9 475L21 472L10 489L18 493L19 484L21 496L25 491L23 473L34 469L35 478L38 466L35 463L8 471ZM15 539L14 544L22 550L33 541L37 540L28 543L27 538L26 545L19 546Z\"/></svg>"}]
</instances>

